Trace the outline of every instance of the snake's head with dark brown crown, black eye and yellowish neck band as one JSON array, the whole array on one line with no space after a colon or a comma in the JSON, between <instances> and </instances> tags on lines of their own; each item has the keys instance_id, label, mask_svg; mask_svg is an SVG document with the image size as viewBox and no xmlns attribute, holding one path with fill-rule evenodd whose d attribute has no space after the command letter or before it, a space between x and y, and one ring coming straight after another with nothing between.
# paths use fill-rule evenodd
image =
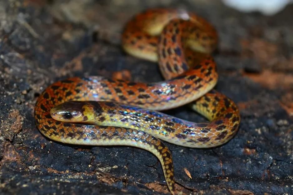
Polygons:
<instances>
[{"instance_id":1,"label":"snake's head with dark brown crown, black eye and yellowish neck band","mask_svg":"<svg viewBox=\"0 0 293 195\"><path fill-rule=\"evenodd\" d=\"M62 122L86 123L88 117L85 115L87 104L82 101L69 101L59 104L50 110L51 117Z\"/></svg>"}]
</instances>

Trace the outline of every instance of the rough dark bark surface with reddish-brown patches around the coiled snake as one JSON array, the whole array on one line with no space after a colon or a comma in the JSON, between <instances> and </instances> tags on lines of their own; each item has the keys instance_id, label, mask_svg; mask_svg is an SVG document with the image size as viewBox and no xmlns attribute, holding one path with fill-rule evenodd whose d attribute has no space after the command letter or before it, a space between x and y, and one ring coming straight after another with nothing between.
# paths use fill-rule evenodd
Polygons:
<instances>
[{"instance_id":1,"label":"rough dark bark surface with reddish-brown patches around the coiled snake","mask_svg":"<svg viewBox=\"0 0 293 195\"><path fill-rule=\"evenodd\" d=\"M126 55L120 33L149 7L182 7L214 24L216 89L241 110L227 144L206 150L168 144L183 194L292 194L293 6L268 17L220 1L0 1L0 193L168 193L158 159L129 147L84 147L46 139L34 123L39 94L57 80L129 69L160 81L157 64ZM166 113L202 117L180 107ZM188 172L190 176L188 176Z\"/></svg>"}]
</instances>

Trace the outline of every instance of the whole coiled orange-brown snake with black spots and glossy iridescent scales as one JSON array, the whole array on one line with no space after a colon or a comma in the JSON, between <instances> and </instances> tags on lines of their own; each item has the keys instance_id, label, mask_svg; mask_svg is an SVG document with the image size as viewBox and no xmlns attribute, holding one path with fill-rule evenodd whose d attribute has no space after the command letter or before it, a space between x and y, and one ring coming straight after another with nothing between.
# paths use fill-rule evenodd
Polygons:
<instances>
[{"instance_id":1,"label":"whole coiled orange-brown snake with black spots and glossy iridescent scales","mask_svg":"<svg viewBox=\"0 0 293 195\"><path fill-rule=\"evenodd\" d=\"M210 148L229 141L239 127L237 105L213 89L218 74L211 53L217 31L194 13L154 8L129 20L121 40L126 53L158 62L165 80L143 83L89 76L57 81L37 99L36 126L62 143L147 150L159 159L168 189L176 194L172 155L162 140ZM159 112L185 104L208 121Z\"/></svg>"}]
</instances>

